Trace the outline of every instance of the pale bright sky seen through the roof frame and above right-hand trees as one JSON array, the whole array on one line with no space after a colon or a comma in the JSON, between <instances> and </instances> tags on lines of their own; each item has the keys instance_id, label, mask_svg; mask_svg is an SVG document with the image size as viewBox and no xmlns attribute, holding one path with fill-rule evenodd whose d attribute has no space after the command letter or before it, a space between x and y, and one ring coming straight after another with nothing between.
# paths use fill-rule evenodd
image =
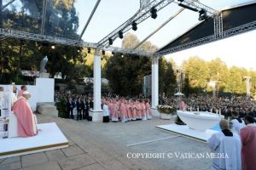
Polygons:
<instances>
[{"instance_id":1,"label":"pale bright sky seen through the roof frame and above right-hand trees","mask_svg":"<svg viewBox=\"0 0 256 170\"><path fill-rule=\"evenodd\" d=\"M85 3L86 2L86 3ZM102 0L96 9L90 25L82 37L85 42L98 42L108 33L120 26L125 20L128 20L139 8L139 0ZM241 3L251 2L250 0L201 0L212 8L227 8ZM90 12L96 0L78 0L75 6L79 12L79 33L89 18ZM143 23L137 26L137 31L130 31L135 34L140 40L147 37L158 26L165 22L172 14L175 14L179 7L177 3L171 3L166 8L158 12L158 17L153 20L148 18ZM169 22L160 31L150 37L148 41L154 43L159 48L171 42L172 39L188 31L189 28L198 23L198 13L185 9L174 20ZM236 65L253 69L256 71L256 31L243 33L235 37L226 38L218 42L208 43L206 45L190 48L175 54L168 54L166 58L172 58L177 65L180 65L183 59L188 59L190 56L198 56L205 60L221 58L229 67ZM121 40L117 38L113 42L113 46L120 47Z\"/></svg>"}]
</instances>

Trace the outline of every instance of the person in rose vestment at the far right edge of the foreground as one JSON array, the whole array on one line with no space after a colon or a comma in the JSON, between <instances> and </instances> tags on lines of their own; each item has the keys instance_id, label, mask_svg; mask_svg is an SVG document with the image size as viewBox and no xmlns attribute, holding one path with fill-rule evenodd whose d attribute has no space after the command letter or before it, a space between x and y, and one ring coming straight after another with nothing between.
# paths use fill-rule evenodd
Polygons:
<instances>
[{"instance_id":1,"label":"person in rose vestment at the far right edge of the foreground","mask_svg":"<svg viewBox=\"0 0 256 170\"><path fill-rule=\"evenodd\" d=\"M256 169L256 124L253 116L246 116L246 127L241 128L241 167L242 170Z\"/></svg>"}]
</instances>

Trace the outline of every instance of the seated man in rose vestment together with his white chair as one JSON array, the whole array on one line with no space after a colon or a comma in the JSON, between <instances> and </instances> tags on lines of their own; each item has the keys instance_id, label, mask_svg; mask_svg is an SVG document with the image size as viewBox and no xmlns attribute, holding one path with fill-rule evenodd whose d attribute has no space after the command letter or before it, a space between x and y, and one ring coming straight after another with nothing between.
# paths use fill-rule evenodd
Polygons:
<instances>
[{"instance_id":1,"label":"seated man in rose vestment together with his white chair","mask_svg":"<svg viewBox=\"0 0 256 170\"><path fill-rule=\"evenodd\" d=\"M37 118L27 100L31 94L25 91L12 105L9 115L9 138L30 137L38 133Z\"/></svg>"}]
</instances>

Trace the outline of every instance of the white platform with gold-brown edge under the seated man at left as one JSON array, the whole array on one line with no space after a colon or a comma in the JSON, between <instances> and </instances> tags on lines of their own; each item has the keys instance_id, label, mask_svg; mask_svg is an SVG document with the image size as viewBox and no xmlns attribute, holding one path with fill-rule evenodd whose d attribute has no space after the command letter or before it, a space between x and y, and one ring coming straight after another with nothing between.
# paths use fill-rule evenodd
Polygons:
<instances>
[{"instance_id":1,"label":"white platform with gold-brown edge under the seated man at left","mask_svg":"<svg viewBox=\"0 0 256 170\"><path fill-rule=\"evenodd\" d=\"M0 139L0 159L68 147L68 140L55 122L38 124L38 135Z\"/></svg>"}]
</instances>

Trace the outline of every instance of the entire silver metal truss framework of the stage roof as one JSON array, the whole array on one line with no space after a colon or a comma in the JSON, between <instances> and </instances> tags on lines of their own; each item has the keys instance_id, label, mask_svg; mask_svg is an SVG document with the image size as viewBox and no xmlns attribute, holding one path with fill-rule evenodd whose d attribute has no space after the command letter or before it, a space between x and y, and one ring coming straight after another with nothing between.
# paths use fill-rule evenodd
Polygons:
<instances>
[{"instance_id":1,"label":"entire silver metal truss framework of the stage roof","mask_svg":"<svg viewBox=\"0 0 256 170\"><path fill-rule=\"evenodd\" d=\"M243 26L238 26L236 28L223 31L223 20L222 20L222 14L219 13L217 10L214 10L213 8L207 7L206 5L199 3L197 0L153 0L153 1L146 1L146 3L142 3L143 5L141 8L137 11L136 14L134 14L129 20L126 20L124 24L119 26L117 29L112 31L110 34L108 34L107 37L104 37L100 42L97 43L91 43L91 42L83 42L80 40L71 40L67 38L61 38L61 37L50 37L40 34L33 34L28 33L24 31L14 31L14 30L8 30L0 28L0 40L14 37L18 39L25 39L25 40L32 40L36 42L49 42L49 43L57 43L67 46L74 46L74 47L84 47L84 48L95 48L97 50L105 50L105 51L112 51L114 53L122 53L122 54L138 54L143 56L152 57L153 59L157 59L160 56L163 56L165 54L171 54L177 51L181 51L186 48L192 48L195 46L199 46L201 44L207 43L207 42L213 42L221 38L225 37L231 37L233 35L243 33L246 31L252 31L256 29L256 20L248 23ZM143 20L148 19L150 17L150 9L155 8L157 11L160 11L160 9L166 7L166 5L170 3L182 3L186 7L189 8L195 8L197 11L200 11L201 9L204 9L207 12L208 16L211 16L214 20L214 34L209 37L203 37L201 39L195 40L194 42L188 42L181 44L177 47L168 48L166 50L160 51L155 54L149 54L144 51L136 50L134 48L117 48L112 47L108 45L108 39L112 38L114 40L115 38L119 37L119 31L122 31L125 33L126 31L129 31L131 29L131 23L135 21L138 24L143 22Z\"/></svg>"}]
</instances>

